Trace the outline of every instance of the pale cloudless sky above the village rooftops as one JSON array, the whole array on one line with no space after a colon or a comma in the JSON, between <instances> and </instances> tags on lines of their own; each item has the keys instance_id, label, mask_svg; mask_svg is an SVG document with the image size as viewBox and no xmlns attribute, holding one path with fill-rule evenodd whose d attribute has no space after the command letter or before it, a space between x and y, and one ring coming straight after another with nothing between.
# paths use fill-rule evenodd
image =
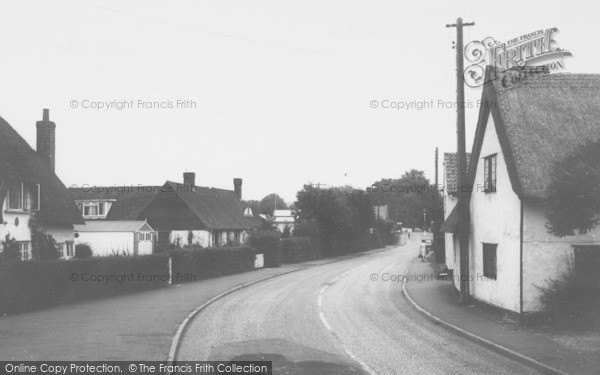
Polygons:
<instances>
[{"instance_id":1,"label":"pale cloudless sky above the village rooftops","mask_svg":"<svg viewBox=\"0 0 600 375\"><path fill-rule=\"evenodd\" d=\"M412 168L433 181L435 147L456 151L455 109L438 105L456 100L446 24L474 21L465 42L557 27L573 54L565 71L600 73L600 2L540 4L3 1L0 116L35 147L50 109L66 186L160 185L190 171L197 185L233 189L240 177L244 199L292 202L309 182L365 188ZM468 102L480 95L466 89Z\"/></svg>"}]
</instances>

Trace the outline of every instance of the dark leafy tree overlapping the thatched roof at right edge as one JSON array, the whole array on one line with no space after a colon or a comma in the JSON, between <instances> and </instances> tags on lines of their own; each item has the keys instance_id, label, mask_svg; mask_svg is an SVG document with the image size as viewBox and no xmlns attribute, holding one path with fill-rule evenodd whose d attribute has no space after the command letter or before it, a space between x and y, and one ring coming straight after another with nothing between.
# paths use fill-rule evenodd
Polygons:
<instances>
[{"instance_id":1,"label":"dark leafy tree overlapping the thatched roof at right edge","mask_svg":"<svg viewBox=\"0 0 600 375\"><path fill-rule=\"evenodd\" d=\"M546 229L557 236L588 233L600 223L600 142L556 163L548 186Z\"/></svg>"}]
</instances>

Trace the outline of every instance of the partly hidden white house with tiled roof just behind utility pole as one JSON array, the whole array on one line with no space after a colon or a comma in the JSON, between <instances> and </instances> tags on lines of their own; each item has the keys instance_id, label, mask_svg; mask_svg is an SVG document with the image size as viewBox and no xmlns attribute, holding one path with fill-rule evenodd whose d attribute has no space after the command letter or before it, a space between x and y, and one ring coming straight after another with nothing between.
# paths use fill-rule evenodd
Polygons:
<instances>
[{"instance_id":1,"label":"partly hidden white house with tiled roof just behind utility pole","mask_svg":"<svg viewBox=\"0 0 600 375\"><path fill-rule=\"evenodd\" d=\"M467 167L469 165L470 153L467 153ZM454 269L454 254L455 248L458 249L458 237L456 233L452 233L452 228L455 228L455 221L458 220L458 213L454 210L456 207L458 198L458 154L457 153L444 153L443 161L444 173L443 173L443 205L444 205L444 221L448 223L446 226L442 225L440 230L442 232L445 229L450 228L447 233L444 233L444 251L446 267L449 270ZM452 218L449 220L449 216L452 214Z\"/></svg>"}]
</instances>

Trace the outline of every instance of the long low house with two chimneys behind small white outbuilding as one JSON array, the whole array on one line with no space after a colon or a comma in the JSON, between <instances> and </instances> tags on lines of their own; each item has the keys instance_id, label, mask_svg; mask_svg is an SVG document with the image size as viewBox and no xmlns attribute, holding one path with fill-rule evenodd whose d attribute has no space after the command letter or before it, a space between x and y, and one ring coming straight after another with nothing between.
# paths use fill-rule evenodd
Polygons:
<instances>
[{"instance_id":1,"label":"long low house with two chimneys behind small white outbuilding","mask_svg":"<svg viewBox=\"0 0 600 375\"><path fill-rule=\"evenodd\" d=\"M195 173L185 172L183 183L81 187L73 195L86 220L147 221L157 233L157 249L212 247L245 243L261 223L241 200L242 179L233 182L234 190L197 186Z\"/></svg>"}]
</instances>

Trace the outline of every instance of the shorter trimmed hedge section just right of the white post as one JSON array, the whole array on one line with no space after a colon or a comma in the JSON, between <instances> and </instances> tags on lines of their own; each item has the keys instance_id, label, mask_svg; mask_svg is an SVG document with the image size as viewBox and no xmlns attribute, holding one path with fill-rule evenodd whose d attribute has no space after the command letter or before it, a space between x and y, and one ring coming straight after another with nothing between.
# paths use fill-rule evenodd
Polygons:
<instances>
[{"instance_id":1,"label":"shorter trimmed hedge section just right of the white post","mask_svg":"<svg viewBox=\"0 0 600 375\"><path fill-rule=\"evenodd\" d=\"M171 250L173 283L198 281L254 269L255 250L250 246L188 246Z\"/></svg>"}]
</instances>

